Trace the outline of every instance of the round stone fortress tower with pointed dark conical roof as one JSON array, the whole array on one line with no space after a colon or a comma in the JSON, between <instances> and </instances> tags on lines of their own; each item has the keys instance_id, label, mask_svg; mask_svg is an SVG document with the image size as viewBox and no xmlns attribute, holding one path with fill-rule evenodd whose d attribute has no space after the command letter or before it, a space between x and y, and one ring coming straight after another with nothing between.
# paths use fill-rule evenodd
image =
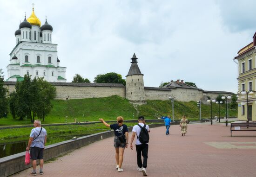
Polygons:
<instances>
[{"instance_id":1,"label":"round stone fortress tower with pointed dark conical roof","mask_svg":"<svg viewBox=\"0 0 256 177\"><path fill-rule=\"evenodd\" d=\"M141 74L141 70L137 64L137 59L138 58L134 53L131 58L132 64L130 70L126 76L126 98L137 103L144 103L145 91L143 74Z\"/></svg>"}]
</instances>

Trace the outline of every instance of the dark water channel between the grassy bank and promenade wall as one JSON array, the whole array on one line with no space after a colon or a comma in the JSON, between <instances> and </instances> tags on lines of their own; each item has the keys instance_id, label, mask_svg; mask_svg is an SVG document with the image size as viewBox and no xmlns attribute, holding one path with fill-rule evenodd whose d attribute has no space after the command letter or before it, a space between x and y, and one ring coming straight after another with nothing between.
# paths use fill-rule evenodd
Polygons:
<instances>
[{"instance_id":1,"label":"dark water channel between the grassy bank and promenade wall","mask_svg":"<svg viewBox=\"0 0 256 177\"><path fill-rule=\"evenodd\" d=\"M82 136L86 136L88 134L80 134L80 135L68 135L68 136L61 136L58 137L58 142L61 141L65 141L68 139L72 139L73 137L82 137ZM53 138L48 137L47 141L51 142L51 140L53 140ZM20 152L25 152L26 151L26 147L27 147L27 143L28 143L28 139L27 141L18 141L18 142L13 142L13 143L1 143L0 144L0 158L4 158L13 154L17 154ZM25 153L24 153L25 155Z\"/></svg>"}]
</instances>

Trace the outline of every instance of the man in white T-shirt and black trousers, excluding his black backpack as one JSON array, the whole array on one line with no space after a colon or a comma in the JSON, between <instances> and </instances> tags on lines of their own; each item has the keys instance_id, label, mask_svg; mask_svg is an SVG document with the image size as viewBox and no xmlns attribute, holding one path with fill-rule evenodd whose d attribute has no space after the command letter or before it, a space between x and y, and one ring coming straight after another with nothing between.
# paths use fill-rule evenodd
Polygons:
<instances>
[{"instance_id":1,"label":"man in white T-shirt and black trousers, excluding his black backpack","mask_svg":"<svg viewBox=\"0 0 256 177\"><path fill-rule=\"evenodd\" d=\"M144 127L145 124L145 119L143 116L140 116L138 119L138 122L141 127ZM137 152L137 164L138 164L138 171L142 171L144 176L148 176L147 172L146 172L146 168L147 168L147 163L148 163L148 143L146 144L142 144L139 140L139 136L141 133L141 127L135 125L133 127L133 134L132 134L132 138L131 138L131 142L130 142L130 148L133 150L133 140L135 138L135 134L137 135L137 139L135 142L136 145L136 152ZM150 132L149 130L149 126L146 125L145 128L148 130L148 133ZM142 152L142 157L143 157L143 164L142 164L142 160L141 160L141 152Z\"/></svg>"}]
</instances>

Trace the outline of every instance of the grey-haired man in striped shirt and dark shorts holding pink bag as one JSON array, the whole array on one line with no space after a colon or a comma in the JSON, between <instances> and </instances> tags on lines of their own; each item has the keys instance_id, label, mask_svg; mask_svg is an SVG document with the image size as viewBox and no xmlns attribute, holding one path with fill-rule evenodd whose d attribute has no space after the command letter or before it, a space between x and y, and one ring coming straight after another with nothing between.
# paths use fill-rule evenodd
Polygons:
<instances>
[{"instance_id":1,"label":"grey-haired man in striped shirt and dark shorts holding pink bag","mask_svg":"<svg viewBox=\"0 0 256 177\"><path fill-rule=\"evenodd\" d=\"M30 149L30 159L32 159L33 171L29 175L36 175L36 160L40 159L40 171L39 174L43 174L44 165L44 147L47 139L46 129L41 127L41 121L35 120L34 127L29 135L28 145L26 151Z\"/></svg>"}]
</instances>

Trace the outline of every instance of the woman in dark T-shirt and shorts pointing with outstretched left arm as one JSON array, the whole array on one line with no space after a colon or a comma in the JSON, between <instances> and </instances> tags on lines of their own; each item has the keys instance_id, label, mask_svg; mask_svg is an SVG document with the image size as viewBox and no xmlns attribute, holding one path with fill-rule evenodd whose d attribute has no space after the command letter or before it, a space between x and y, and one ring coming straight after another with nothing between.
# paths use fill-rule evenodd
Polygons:
<instances>
[{"instance_id":1,"label":"woman in dark T-shirt and shorts pointing with outstretched left arm","mask_svg":"<svg viewBox=\"0 0 256 177\"><path fill-rule=\"evenodd\" d=\"M123 153L124 148L127 148L128 145L128 127L123 124L123 118L118 116L116 118L117 123L109 125L103 119L99 119L105 126L108 126L114 130L115 138L114 138L114 147L115 147L115 161L116 161L116 169L118 172L122 172L123 169Z\"/></svg>"}]
</instances>

